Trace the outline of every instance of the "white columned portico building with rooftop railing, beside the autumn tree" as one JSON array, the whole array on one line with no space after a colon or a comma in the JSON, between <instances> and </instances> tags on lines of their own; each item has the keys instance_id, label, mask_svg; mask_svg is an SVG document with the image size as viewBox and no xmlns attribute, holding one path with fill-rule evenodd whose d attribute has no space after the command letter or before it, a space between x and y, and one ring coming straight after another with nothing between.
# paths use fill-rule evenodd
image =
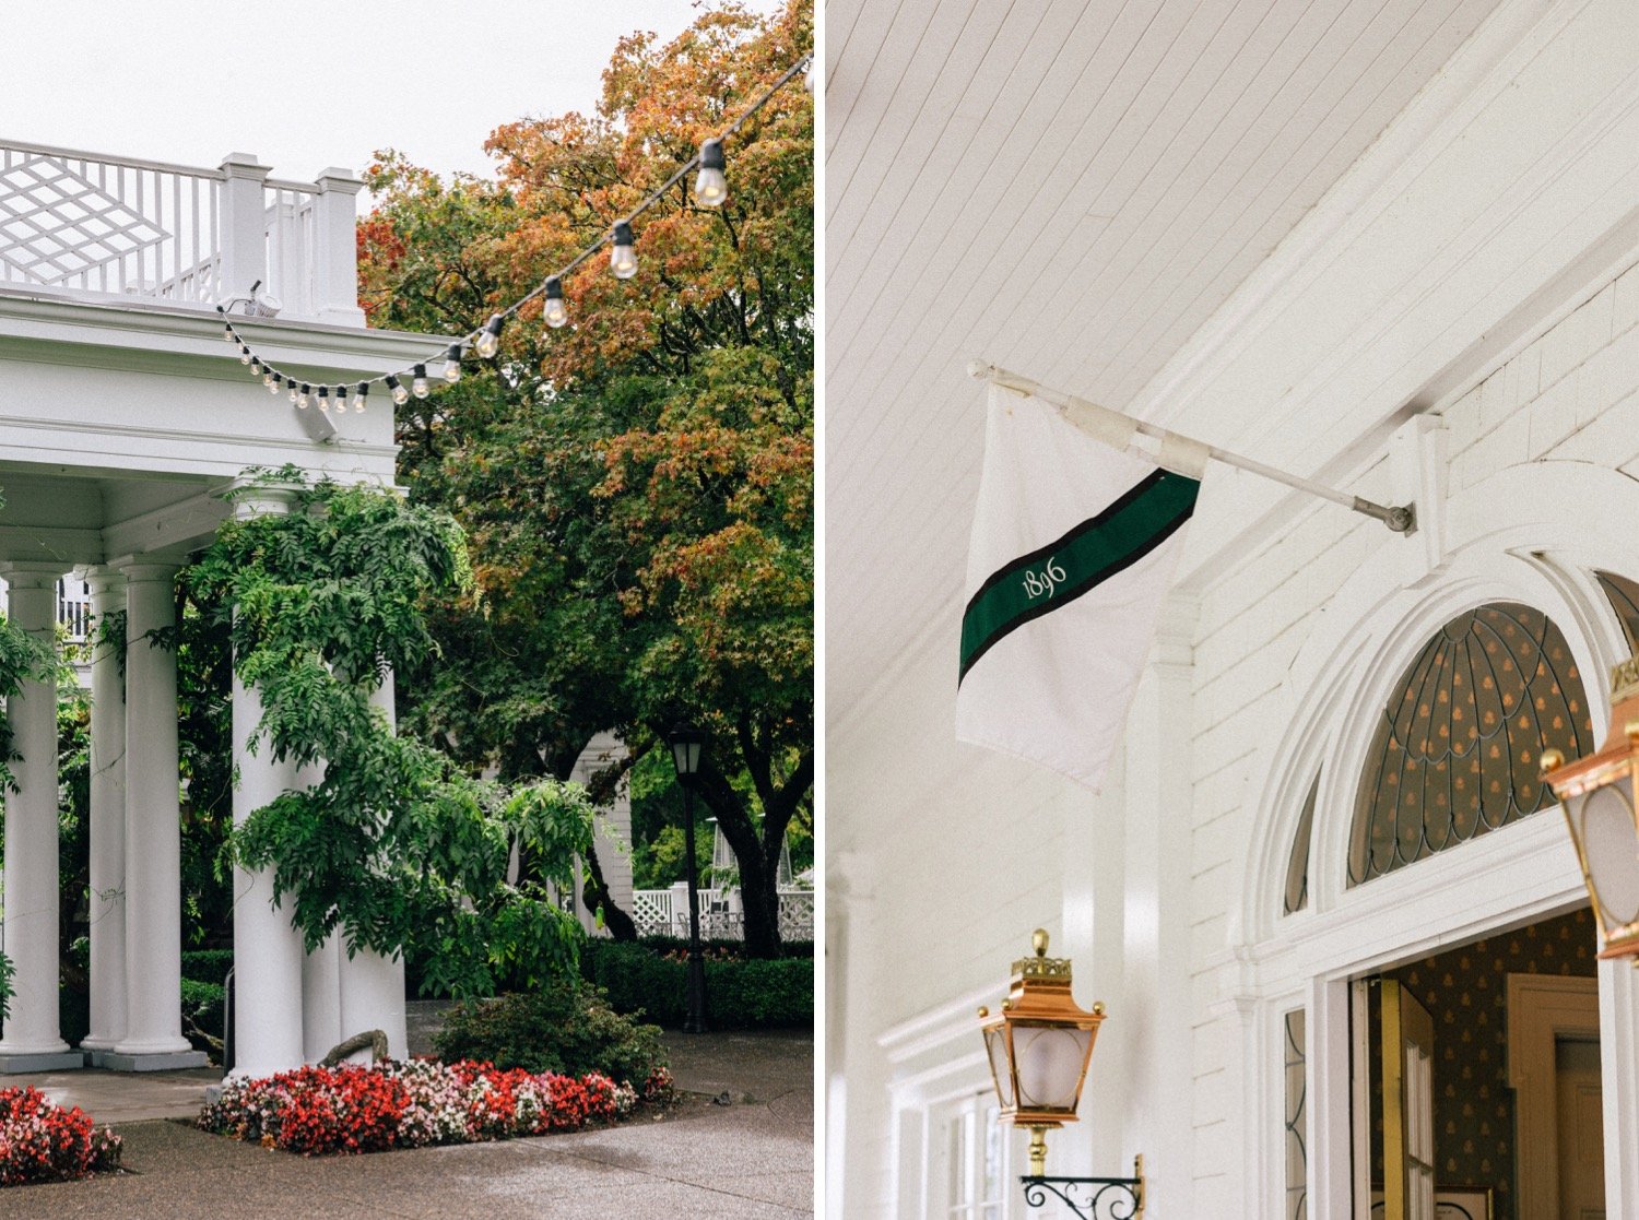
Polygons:
<instances>
[{"instance_id":1,"label":"white columned portico building with rooftop railing, beside the autumn tree","mask_svg":"<svg viewBox=\"0 0 1639 1220\"><path fill-rule=\"evenodd\" d=\"M244 337L318 385L403 368L443 350L367 331L357 306L356 197L329 169L269 177L231 154L192 169L0 139L0 576L7 612L49 639L54 588L89 573L92 609L126 611L128 658L98 650L92 688L92 1033L57 1020L56 698L11 701L20 791L5 796L5 951L16 996L0 1071L152 1069L197 1061L180 1032L177 717L174 653L148 645L174 622L172 578L229 511L275 498L223 493L247 467L293 465L393 480L392 404L298 409L269 395L223 342L218 305ZM251 298L261 306L256 308ZM267 316L277 298L277 316ZM390 685L382 698L390 707ZM234 816L295 783L244 748L254 691L236 691ZM403 969L336 943L305 955L266 876L236 879L238 1068L266 1073L384 1028L405 1051Z\"/></svg>"}]
</instances>

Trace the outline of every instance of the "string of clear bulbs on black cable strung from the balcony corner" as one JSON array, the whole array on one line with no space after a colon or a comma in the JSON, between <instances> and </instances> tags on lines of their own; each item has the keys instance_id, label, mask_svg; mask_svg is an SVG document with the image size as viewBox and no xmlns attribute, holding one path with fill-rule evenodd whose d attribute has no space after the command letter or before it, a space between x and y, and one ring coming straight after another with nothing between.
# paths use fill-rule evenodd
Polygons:
<instances>
[{"instance_id":1,"label":"string of clear bulbs on black cable strung from the balcony corner","mask_svg":"<svg viewBox=\"0 0 1639 1220\"><path fill-rule=\"evenodd\" d=\"M729 136L738 136L739 129L751 120L752 115L760 111L769 100L779 93L795 75L803 74L803 87L813 93L818 79L818 67L813 56L803 56L769 88L765 88L756 102L752 102L739 118L736 118L728 128L720 134L710 136L700 144L700 152L690 157L685 164L679 165L677 170L662 182L656 190L652 190L636 208L628 213L624 219L613 224L606 237L598 237L597 242L580 251L574 259L570 259L564 267L561 267L554 275L546 277L546 280L526 293L524 296L513 301L510 306L500 313L490 314L488 321L484 323L482 329L464 336L459 342L451 344L444 352L444 367L441 370L443 380L447 385L456 385L461 380L462 368L461 359L465 349L470 347L480 360L492 360L500 354L502 329L506 326L506 319L511 318L518 310L533 301L536 296L541 298L541 318L552 329L565 326L569 323L569 306L564 301L564 280L569 278L582 264L598 254L605 244L610 247L610 273L618 280L629 280L638 273L638 251L636 251L636 234L633 233L633 221L638 219L649 208L662 203L670 193L672 187L677 187L688 175L690 170L695 174L693 198L695 203L703 208L720 208L728 201L728 162L723 152L723 141ZM306 409L310 398L318 398L320 409L329 409L331 391L329 386L320 386L316 395L310 385L297 383L293 377L287 377L279 368L270 365L267 360L261 359L256 350L239 336L233 324L233 318L228 316L228 308L225 305L216 306L216 313L221 314L223 331L221 337L239 347L239 364L249 365L252 377L261 377L262 385L267 391L277 395L280 390L287 391L290 401L298 409ZM431 359L438 359L436 355ZM411 388L406 390L403 378L410 380ZM352 398L352 409L364 411L365 398L369 396L370 385L382 382L397 406L403 406L410 401L411 390L416 398L426 398L433 391L431 380L426 375L426 364L416 364L410 368L400 368L397 373L382 373L372 377L365 382L359 382ZM334 393L336 413L344 413L347 409L347 386L338 385Z\"/></svg>"}]
</instances>

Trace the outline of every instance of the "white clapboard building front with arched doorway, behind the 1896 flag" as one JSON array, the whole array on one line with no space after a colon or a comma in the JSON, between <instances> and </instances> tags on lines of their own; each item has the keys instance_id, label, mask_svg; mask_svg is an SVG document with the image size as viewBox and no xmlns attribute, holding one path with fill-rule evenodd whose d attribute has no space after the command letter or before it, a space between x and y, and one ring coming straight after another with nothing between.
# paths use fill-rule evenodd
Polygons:
<instances>
[{"instance_id":1,"label":"white clapboard building front with arched doorway, behind the 1896 flag","mask_svg":"<svg viewBox=\"0 0 1639 1220\"><path fill-rule=\"evenodd\" d=\"M1041 925L1110 1010L1049 1174L1367 1217L1398 987L1439 1192L1639 1217L1639 976L1532 812L1634 647L1639 8L826 16L831 1213L1024 1215L974 1012ZM1214 468L1103 794L959 747L970 357L1418 531Z\"/></svg>"}]
</instances>

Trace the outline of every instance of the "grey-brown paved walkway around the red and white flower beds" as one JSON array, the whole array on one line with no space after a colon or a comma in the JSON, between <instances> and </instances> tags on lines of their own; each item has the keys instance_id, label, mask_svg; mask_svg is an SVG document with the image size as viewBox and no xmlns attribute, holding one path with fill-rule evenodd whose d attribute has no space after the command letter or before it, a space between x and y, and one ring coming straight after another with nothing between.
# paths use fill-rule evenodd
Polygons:
<instances>
[{"instance_id":1,"label":"grey-brown paved walkway around the red and white flower beds","mask_svg":"<svg viewBox=\"0 0 1639 1220\"><path fill-rule=\"evenodd\" d=\"M393 1217L554 1220L813 1215L813 1037L667 1033L683 1104L665 1120L575 1135L302 1158L179 1122L115 1122L129 1173L0 1191L0 1217ZM64 1078L77 1078L64 1082ZM102 1078L102 1079L98 1079ZM146 1102L197 1114L208 1073L56 1073L46 1081L98 1123ZM724 1099L723 1094L728 1094ZM84 1100L82 1100L84 1097ZM97 1099L102 1099L97 1102ZM182 1100L179 1100L179 1097ZM85 1102L92 1100L92 1105ZM726 1100L726 1104L720 1104Z\"/></svg>"}]
</instances>

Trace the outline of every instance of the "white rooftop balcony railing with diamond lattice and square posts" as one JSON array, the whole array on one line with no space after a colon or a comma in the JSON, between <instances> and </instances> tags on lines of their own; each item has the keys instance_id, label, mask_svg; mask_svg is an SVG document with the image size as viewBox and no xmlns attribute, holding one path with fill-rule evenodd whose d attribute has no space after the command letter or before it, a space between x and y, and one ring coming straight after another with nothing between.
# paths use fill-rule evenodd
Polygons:
<instances>
[{"instance_id":1,"label":"white rooftop balcony railing with diamond lattice and square posts","mask_svg":"<svg viewBox=\"0 0 1639 1220\"><path fill-rule=\"evenodd\" d=\"M0 139L0 291L364 326L364 183L269 172L244 152L195 169Z\"/></svg>"}]
</instances>

